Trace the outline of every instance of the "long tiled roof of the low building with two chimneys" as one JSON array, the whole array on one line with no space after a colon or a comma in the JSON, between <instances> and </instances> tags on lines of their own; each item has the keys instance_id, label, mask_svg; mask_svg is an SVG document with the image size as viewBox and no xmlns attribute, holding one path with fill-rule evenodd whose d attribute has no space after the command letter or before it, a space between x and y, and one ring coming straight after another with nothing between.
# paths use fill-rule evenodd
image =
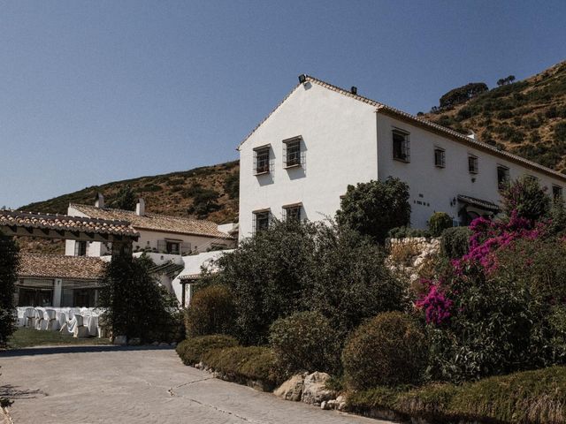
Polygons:
<instances>
[{"instance_id":1,"label":"long tiled roof of the low building with two chimneys","mask_svg":"<svg viewBox=\"0 0 566 424\"><path fill-rule=\"evenodd\" d=\"M146 213L137 215L132 210L97 208L96 206L71 203L71 208L92 218L119 219L132 224L135 230L171 232L175 234L191 234L215 239L233 239L226 232L218 231L218 225L211 221Z\"/></svg>"}]
</instances>

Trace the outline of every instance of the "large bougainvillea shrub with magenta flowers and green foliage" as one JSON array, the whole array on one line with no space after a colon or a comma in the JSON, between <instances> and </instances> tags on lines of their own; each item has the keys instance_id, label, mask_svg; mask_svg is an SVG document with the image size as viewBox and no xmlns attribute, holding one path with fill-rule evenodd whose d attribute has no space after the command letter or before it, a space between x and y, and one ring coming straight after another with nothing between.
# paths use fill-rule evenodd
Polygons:
<instances>
[{"instance_id":1,"label":"large bougainvillea shrub with magenta flowers and green foliage","mask_svg":"<svg viewBox=\"0 0 566 424\"><path fill-rule=\"evenodd\" d=\"M551 320L566 302L566 243L551 222L512 211L478 218L470 231L469 251L422 281L415 302L428 324L430 377L463 382L565 362L562 327Z\"/></svg>"}]
</instances>

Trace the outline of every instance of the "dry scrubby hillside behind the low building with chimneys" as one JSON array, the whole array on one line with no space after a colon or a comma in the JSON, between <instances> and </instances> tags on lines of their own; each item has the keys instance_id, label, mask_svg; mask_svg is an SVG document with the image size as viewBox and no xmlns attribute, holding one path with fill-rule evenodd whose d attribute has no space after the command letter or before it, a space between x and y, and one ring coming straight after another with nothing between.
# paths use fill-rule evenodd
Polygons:
<instances>
[{"instance_id":1,"label":"dry scrubby hillside behind the low building with chimneys","mask_svg":"<svg viewBox=\"0 0 566 424\"><path fill-rule=\"evenodd\" d=\"M96 193L103 193L106 204L111 204L123 186L131 186L146 201L146 210L157 214L189 216L187 208L193 204L188 190L195 184L220 194L217 211L207 219L215 223L234 222L238 216L238 199L231 199L225 190L226 178L239 175L238 161L204 166L181 172L116 181L103 186L91 186L75 193L64 194L48 201L30 203L19 209L32 212L66 214L69 203L94 204ZM65 248L59 240L20 238L19 246L25 252L61 254Z\"/></svg>"}]
</instances>

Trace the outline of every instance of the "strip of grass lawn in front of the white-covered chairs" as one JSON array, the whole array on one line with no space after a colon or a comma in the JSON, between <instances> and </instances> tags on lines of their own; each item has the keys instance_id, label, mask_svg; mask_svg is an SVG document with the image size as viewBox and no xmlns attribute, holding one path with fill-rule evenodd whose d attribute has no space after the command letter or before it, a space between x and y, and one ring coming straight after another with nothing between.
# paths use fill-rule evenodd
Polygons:
<instances>
[{"instance_id":1,"label":"strip of grass lawn in front of the white-covered chairs","mask_svg":"<svg viewBox=\"0 0 566 424\"><path fill-rule=\"evenodd\" d=\"M40 331L38 329L19 328L8 339L8 348L19 349L33 346L55 345L110 345L108 338L74 338L58 331Z\"/></svg>"}]
</instances>

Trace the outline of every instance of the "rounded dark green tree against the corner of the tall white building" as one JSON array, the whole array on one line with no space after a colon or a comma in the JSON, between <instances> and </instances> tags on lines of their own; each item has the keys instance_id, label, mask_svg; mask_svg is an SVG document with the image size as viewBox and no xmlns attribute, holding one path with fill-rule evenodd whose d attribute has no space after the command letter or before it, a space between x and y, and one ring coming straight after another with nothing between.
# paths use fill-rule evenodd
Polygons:
<instances>
[{"instance_id":1,"label":"rounded dark green tree against the corner of the tall white building","mask_svg":"<svg viewBox=\"0 0 566 424\"><path fill-rule=\"evenodd\" d=\"M336 219L340 225L384 243L389 230L410 222L409 186L391 177L348 186Z\"/></svg>"}]
</instances>

